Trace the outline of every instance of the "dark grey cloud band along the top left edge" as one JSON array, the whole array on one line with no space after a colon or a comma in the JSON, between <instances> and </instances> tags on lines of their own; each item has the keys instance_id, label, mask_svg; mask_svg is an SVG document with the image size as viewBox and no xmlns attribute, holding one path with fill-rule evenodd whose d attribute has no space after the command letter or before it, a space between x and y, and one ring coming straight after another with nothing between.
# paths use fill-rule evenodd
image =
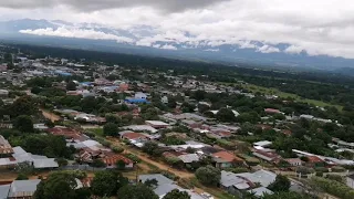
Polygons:
<instances>
[{"instance_id":1,"label":"dark grey cloud band along the top left edge","mask_svg":"<svg viewBox=\"0 0 354 199\"><path fill-rule=\"evenodd\" d=\"M178 12L229 0L1 0L0 7L11 9L51 8L69 6L80 11L148 6L163 11Z\"/></svg>"}]
</instances>

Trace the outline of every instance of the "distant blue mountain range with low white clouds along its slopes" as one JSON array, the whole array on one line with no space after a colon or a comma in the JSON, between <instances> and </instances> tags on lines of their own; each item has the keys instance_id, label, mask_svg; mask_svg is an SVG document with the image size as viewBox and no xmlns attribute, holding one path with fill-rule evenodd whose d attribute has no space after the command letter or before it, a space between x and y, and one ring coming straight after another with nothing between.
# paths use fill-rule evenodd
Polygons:
<instances>
[{"instance_id":1,"label":"distant blue mountain range with low white clouds along its slopes","mask_svg":"<svg viewBox=\"0 0 354 199\"><path fill-rule=\"evenodd\" d=\"M41 31L35 32L35 30ZM74 30L76 31L76 38L69 38L67 32L62 33L58 30ZM48 32L51 32L51 34ZM113 29L95 23L73 24L61 20L22 19L0 21L0 39L12 42L217 61L231 65L257 63L277 69L326 70L335 72L354 69L354 60L350 59L325 55L310 56L305 52L288 54L284 52L290 46L287 43L270 46L259 41L247 41L243 45L226 44L227 42L220 42L219 45L216 45L210 44L207 40L192 43L166 39L145 43L145 39L152 39L157 34L158 32L154 28L147 25ZM66 38L63 38L63 35ZM194 35L186 32L185 36L192 39Z\"/></svg>"}]
</instances>

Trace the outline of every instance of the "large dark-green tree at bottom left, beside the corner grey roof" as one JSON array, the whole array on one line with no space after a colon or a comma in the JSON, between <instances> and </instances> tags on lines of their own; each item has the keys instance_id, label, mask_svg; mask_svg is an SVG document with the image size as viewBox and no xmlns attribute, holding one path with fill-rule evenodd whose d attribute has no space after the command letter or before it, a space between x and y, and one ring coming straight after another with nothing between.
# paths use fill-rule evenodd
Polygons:
<instances>
[{"instance_id":1,"label":"large dark-green tree at bottom left, beside the corner grey roof","mask_svg":"<svg viewBox=\"0 0 354 199\"><path fill-rule=\"evenodd\" d=\"M69 172L52 172L37 186L34 199L75 199L75 178Z\"/></svg>"}]
</instances>

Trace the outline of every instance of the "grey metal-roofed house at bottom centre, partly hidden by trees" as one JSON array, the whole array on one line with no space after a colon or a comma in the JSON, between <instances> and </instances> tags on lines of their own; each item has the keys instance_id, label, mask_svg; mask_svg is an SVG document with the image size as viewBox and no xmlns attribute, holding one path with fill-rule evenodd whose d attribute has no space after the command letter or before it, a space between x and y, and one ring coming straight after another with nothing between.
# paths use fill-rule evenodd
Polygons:
<instances>
[{"instance_id":1,"label":"grey metal-roofed house at bottom centre, partly hidden by trees","mask_svg":"<svg viewBox=\"0 0 354 199\"><path fill-rule=\"evenodd\" d=\"M160 174L153 174L153 175L140 175L138 176L138 181L144 184L147 180L153 180L155 179L157 181L157 186L154 187L154 192L159 197L164 198L165 195L170 192L174 189L178 189L180 191L186 191L189 196L190 199L205 199L202 196L198 195L197 192L194 192L188 189L183 189L178 185L176 185L175 181L166 178L165 176Z\"/></svg>"}]
</instances>

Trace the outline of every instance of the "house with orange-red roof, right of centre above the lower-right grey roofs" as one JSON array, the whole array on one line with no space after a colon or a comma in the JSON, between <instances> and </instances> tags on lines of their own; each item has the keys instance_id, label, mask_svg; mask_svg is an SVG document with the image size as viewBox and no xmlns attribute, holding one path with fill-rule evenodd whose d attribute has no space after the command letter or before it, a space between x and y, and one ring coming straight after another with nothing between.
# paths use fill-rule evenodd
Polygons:
<instances>
[{"instance_id":1,"label":"house with orange-red roof, right of centre above the lower-right grey roofs","mask_svg":"<svg viewBox=\"0 0 354 199\"><path fill-rule=\"evenodd\" d=\"M228 151L218 151L211 155L217 168L229 168L233 165L242 165L243 160Z\"/></svg>"}]
</instances>

